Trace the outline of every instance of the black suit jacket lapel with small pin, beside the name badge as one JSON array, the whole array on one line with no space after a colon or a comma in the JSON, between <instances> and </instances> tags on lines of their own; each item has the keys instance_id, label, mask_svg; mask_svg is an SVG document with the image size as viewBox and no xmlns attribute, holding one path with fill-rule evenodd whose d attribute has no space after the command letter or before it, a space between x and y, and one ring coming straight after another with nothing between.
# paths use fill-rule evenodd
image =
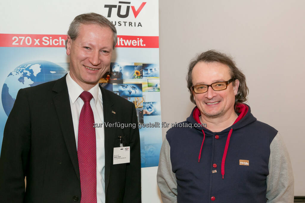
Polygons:
<instances>
[{"instance_id":1,"label":"black suit jacket lapel with small pin, beside the name badge","mask_svg":"<svg viewBox=\"0 0 305 203\"><path fill-rule=\"evenodd\" d=\"M102 87L102 99L103 99L103 113L104 113L104 122L107 123L115 123L116 122L116 110L113 109L113 100L112 97L109 96L107 91L105 91ZM109 176L110 176L110 166L113 159L113 144L116 135L116 128L114 127L106 127L105 129L105 194L107 192L108 184L109 184Z\"/></svg>"}]
</instances>

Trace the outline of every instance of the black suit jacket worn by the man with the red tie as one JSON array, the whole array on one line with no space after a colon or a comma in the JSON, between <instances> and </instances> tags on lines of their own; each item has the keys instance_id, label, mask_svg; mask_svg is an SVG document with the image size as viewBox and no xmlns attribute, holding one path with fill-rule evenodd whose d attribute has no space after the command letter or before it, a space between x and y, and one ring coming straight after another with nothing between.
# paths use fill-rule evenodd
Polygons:
<instances>
[{"instance_id":1,"label":"black suit jacket worn by the man with the red tie","mask_svg":"<svg viewBox=\"0 0 305 203\"><path fill-rule=\"evenodd\" d=\"M101 88L105 127L106 203L141 202L141 158L135 105ZM130 163L113 165L113 147L130 146ZM24 191L24 177L27 187ZM80 202L77 149L66 77L20 89L7 119L0 158L0 202Z\"/></svg>"}]
</instances>

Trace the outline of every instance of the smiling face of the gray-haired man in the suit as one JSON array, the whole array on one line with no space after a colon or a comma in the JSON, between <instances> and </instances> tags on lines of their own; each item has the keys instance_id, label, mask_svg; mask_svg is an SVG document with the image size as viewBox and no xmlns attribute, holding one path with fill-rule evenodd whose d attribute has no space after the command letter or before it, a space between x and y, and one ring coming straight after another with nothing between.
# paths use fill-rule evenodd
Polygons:
<instances>
[{"instance_id":1,"label":"smiling face of the gray-haired man in the suit","mask_svg":"<svg viewBox=\"0 0 305 203\"><path fill-rule=\"evenodd\" d=\"M109 27L81 24L75 40L68 36L70 76L85 91L94 87L109 69L112 47L113 32Z\"/></svg>"}]
</instances>

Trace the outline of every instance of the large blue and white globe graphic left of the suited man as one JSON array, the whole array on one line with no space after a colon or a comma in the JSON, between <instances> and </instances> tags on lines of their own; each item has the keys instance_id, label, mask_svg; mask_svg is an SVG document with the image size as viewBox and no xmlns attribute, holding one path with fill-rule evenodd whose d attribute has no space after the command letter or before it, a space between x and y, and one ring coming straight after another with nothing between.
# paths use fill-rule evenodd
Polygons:
<instances>
[{"instance_id":1,"label":"large blue and white globe graphic left of the suited man","mask_svg":"<svg viewBox=\"0 0 305 203\"><path fill-rule=\"evenodd\" d=\"M7 116L11 112L17 92L21 88L57 80L66 74L61 66L49 61L30 61L16 67L5 79L2 87L2 106Z\"/></svg>"}]
</instances>

